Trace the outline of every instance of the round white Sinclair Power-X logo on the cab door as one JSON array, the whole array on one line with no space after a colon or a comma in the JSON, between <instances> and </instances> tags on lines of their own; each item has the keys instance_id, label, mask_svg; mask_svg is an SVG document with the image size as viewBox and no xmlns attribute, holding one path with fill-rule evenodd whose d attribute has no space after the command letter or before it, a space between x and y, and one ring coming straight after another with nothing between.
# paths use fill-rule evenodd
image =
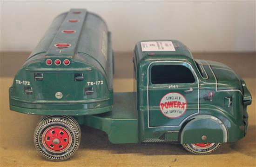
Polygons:
<instances>
[{"instance_id":1,"label":"round white Sinclair Power-X logo on the cab door","mask_svg":"<svg viewBox=\"0 0 256 167\"><path fill-rule=\"evenodd\" d=\"M187 110L186 98L177 92L170 92L162 97L159 107L164 116L178 118Z\"/></svg>"}]
</instances>

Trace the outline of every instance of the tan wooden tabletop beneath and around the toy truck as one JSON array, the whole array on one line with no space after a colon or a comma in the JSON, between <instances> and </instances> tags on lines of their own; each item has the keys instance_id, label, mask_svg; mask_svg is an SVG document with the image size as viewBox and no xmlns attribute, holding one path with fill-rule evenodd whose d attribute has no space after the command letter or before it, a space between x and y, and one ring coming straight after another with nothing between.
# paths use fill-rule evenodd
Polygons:
<instances>
[{"instance_id":1,"label":"tan wooden tabletop beneath and around the toy truck","mask_svg":"<svg viewBox=\"0 0 256 167\"><path fill-rule=\"evenodd\" d=\"M249 129L242 140L224 143L210 155L193 155L174 144L112 144L97 129L81 126L81 145L61 162L44 159L34 148L34 128L40 116L9 110L8 88L28 52L2 52L0 59L0 166L256 166L256 53L194 53L195 58L229 65L247 83L253 96L248 107ZM133 90L132 53L115 53L114 91Z\"/></svg>"}]
</instances>

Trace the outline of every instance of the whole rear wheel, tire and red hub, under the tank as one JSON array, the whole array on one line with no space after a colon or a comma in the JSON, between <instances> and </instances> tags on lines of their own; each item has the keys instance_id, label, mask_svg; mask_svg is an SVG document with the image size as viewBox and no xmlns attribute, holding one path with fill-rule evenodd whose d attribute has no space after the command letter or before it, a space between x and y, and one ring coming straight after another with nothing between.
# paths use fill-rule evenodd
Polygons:
<instances>
[{"instance_id":1,"label":"whole rear wheel, tire and red hub, under the tank","mask_svg":"<svg viewBox=\"0 0 256 167\"><path fill-rule=\"evenodd\" d=\"M78 149L80 129L66 116L48 116L35 129L34 145L50 160L66 160Z\"/></svg>"}]
</instances>

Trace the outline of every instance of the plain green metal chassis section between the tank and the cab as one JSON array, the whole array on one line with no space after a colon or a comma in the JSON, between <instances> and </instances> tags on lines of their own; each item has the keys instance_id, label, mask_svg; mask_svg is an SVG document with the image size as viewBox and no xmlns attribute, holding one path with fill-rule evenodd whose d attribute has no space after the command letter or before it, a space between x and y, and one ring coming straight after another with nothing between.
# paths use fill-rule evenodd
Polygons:
<instances>
[{"instance_id":1,"label":"plain green metal chassis section between the tank and the cab","mask_svg":"<svg viewBox=\"0 0 256 167\"><path fill-rule=\"evenodd\" d=\"M138 118L134 92L114 92L112 111L88 116L75 116L79 124L103 130L112 143L137 143Z\"/></svg>"}]
</instances>

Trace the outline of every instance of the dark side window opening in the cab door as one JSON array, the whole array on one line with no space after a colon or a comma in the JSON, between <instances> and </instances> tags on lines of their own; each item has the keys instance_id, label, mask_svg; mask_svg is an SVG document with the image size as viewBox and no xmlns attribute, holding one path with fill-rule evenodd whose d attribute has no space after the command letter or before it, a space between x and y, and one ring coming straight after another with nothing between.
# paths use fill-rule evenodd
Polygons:
<instances>
[{"instance_id":1,"label":"dark side window opening in the cab door","mask_svg":"<svg viewBox=\"0 0 256 167\"><path fill-rule=\"evenodd\" d=\"M194 83L195 77L183 65L154 65L151 68L151 83Z\"/></svg>"}]
</instances>

